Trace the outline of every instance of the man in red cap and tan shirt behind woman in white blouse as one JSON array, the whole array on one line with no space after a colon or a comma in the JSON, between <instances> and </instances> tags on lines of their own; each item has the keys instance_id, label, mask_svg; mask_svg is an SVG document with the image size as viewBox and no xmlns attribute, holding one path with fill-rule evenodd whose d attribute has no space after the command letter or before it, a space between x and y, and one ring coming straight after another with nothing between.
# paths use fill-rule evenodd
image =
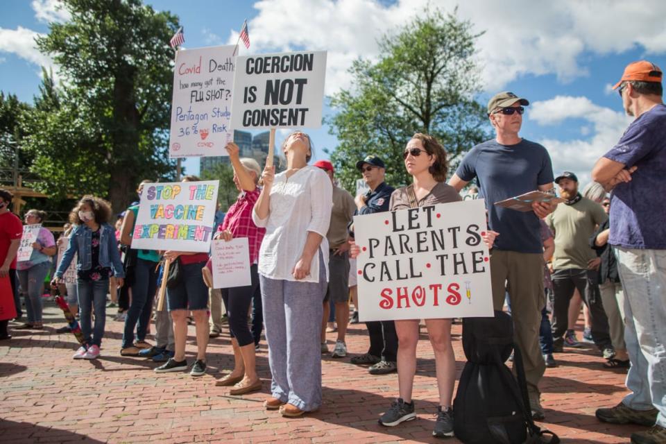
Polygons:
<instances>
[{"instance_id":1,"label":"man in red cap and tan shirt behind woman in white blouse","mask_svg":"<svg viewBox=\"0 0 666 444\"><path fill-rule=\"evenodd\" d=\"M324 297L324 312L321 324L321 351L328 352L326 345L326 323L331 309L335 312L335 321L338 325L338 337L335 348L331 354L334 358L347 356L345 335L349 321L349 242L347 241L347 226L352 221L356 205L354 198L345 189L335 185L333 164L328 160L318 160L314 166L328 175L333 184L333 208L331 210L331 223L328 225L326 239L328 239L328 289Z\"/></svg>"}]
</instances>

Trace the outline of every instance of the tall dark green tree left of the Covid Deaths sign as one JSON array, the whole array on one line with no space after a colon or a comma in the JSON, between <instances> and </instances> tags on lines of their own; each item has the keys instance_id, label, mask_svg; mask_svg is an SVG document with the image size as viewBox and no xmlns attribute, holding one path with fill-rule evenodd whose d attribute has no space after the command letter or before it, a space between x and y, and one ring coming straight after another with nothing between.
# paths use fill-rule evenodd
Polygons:
<instances>
[{"instance_id":1,"label":"tall dark green tree left of the Covid Deaths sign","mask_svg":"<svg viewBox=\"0 0 666 444\"><path fill-rule=\"evenodd\" d=\"M71 19L37 46L55 60L26 119L33 170L52 196L94 193L121 210L144 179L173 178L168 137L178 20L140 0L63 0Z\"/></svg>"}]
</instances>

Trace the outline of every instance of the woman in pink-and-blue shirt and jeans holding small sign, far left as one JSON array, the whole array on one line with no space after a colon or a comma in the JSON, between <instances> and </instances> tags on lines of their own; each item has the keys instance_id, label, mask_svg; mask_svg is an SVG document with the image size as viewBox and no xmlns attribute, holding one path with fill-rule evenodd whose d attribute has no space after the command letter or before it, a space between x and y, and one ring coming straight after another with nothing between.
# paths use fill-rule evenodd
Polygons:
<instances>
[{"instance_id":1,"label":"woman in pink-and-blue shirt and jeans holding small sign, far left","mask_svg":"<svg viewBox=\"0 0 666 444\"><path fill-rule=\"evenodd\" d=\"M30 210L26 213L26 225L41 224L46 213L40 210ZM51 256L56 254L56 239L44 227L39 228L37 239L31 245L33 250L27 260L17 262L16 270L21 284L21 293L26 300L28 322L19 329L41 330L42 325L42 289L44 278L51 269Z\"/></svg>"}]
</instances>

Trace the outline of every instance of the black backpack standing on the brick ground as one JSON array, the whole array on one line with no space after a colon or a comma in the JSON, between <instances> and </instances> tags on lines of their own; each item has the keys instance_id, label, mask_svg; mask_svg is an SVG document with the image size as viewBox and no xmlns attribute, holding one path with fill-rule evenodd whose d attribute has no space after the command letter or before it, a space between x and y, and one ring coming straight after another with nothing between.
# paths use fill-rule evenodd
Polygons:
<instances>
[{"instance_id":1,"label":"black backpack standing on the brick ground","mask_svg":"<svg viewBox=\"0 0 666 444\"><path fill-rule=\"evenodd\" d=\"M522 356L513 343L509 314L495 311L494 318L465 318L463 350L468 362L453 402L456 438L466 444L560 442L532 420ZM518 381L504 365L511 350ZM543 434L552 438L547 440Z\"/></svg>"}]
</instances>

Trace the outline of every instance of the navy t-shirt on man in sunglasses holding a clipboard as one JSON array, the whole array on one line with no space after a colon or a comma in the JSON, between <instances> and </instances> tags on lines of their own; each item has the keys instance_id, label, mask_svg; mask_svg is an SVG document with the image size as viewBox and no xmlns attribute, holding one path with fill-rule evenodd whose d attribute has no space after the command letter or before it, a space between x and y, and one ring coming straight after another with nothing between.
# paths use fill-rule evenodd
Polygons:
<instances>
[{"instance_id":1,"label":"navy t-shirt on man in sunglasses holding a clipboard","mask_svg":"<svg viewBox=\"0 0 666 444\"><path fill-rule=\"evenodd\" d=\"M488 140L470 150L456 176L466 182L477 179L480 194L486 199L488 226L499 233L493 248L519 253L543 252L539 218L534 212L493 204L553 182L553 167L546 148L525 139L515 145Z\"/></svg>"}]
</instances>

